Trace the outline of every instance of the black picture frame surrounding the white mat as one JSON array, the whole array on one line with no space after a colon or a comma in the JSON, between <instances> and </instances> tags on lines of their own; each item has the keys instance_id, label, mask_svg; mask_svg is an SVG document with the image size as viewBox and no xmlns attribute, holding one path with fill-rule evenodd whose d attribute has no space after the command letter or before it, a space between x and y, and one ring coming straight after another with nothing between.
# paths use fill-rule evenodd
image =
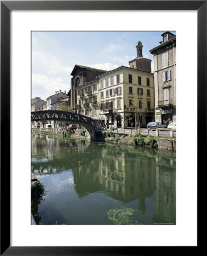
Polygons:
<instances>
[{"instance_id":1,"label":"black picture frame surrounding the white mat","mask_svg":"<svg viewBox=\"0 0 207 256\"><path fill-rule=\"evenodd\" d=\"M10 13L13 10L197 10L197 172L206 158L207 1L1 1L1 255L175 254L185 246L10 246ZM189 39L190 40L190 39ZM3 171L6 163L7 171ZM197 197L199 199L199 197ZM190 224L189 224L190 225ZM191 252L198 250L191 247Z\"/></svg>"}]
</instances>

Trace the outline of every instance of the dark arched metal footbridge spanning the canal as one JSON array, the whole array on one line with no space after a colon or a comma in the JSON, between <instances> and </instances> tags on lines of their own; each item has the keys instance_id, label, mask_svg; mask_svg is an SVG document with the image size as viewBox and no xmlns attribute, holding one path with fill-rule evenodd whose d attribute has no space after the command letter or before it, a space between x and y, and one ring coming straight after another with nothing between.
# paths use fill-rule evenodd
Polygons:
<instances>
[{"instance_id":1,"label":"dark arched metal footbridge spanning the canal","mask_svg":"<svg viewBox=\"0 0 207 256\"><path fill-rule=\"evenodd\" d=\"M95 127L96 121L90 117L86 117L85 115L66 112L60 110L44 110L44 111L36 111L31 113L32 122L44 122L44 121L59 121L59 122L72 122L77 125L82 125L88 131L90 137L92 139L95 138Z\"/></svg>"}]
</instances>

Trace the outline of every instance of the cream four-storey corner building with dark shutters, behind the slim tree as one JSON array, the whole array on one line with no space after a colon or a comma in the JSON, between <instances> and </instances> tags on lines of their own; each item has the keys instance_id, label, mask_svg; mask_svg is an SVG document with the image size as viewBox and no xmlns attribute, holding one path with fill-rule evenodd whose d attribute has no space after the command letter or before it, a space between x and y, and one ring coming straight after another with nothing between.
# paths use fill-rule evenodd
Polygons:
<instances>
[{"instance_id":1,"label":"cream four-storey corner building with dark shutters, behind the slim tree","mask_svg":"<svg viewBox=\"0 0 207 256\"><path fill-rule=\"evenodd\" d=\"M110 127L135 127L130 110L134 98L139 101L140 126L154 121L154 75L121 66L99 76L100 119ZM138 118L136 119L138 125Z\"/></svg>"}]
</instances>

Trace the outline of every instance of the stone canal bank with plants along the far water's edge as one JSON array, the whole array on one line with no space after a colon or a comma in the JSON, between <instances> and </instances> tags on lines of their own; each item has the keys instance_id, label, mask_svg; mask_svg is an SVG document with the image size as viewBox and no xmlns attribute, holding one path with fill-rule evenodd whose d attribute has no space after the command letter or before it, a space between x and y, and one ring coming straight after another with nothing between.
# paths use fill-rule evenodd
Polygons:
<instances>
[{"instance_id":1,"label":"stone canal bank with plants along the far water's edge","mask_svg":"<svg viewBox=\"0 0 207 256\"><path fill-rule=\"evenodd\" d=\"M63 130L38 130L32 129L32 133L41 134L41 135L55 135L57 137L65 136L65 131ZM74 131L74 133L66 135L71 138L77 139L90 139L90 137L79 135L79 130ZM122 137L122 138L121 138ZM152 137L150 135L141 135L143 138L149 138L152 142L150 143L136 143L135 135L126 135L126 134L117 134L112 132L105 131L97 131L96 132L96 141L97 142L106 142L106 143L114 143L114 144L128 144L135 145L139 144L139 146L145 147L158 147L164 148L167 150L176 150L176 138L165 138L165 137Z\"/></svg>"}]
</instances>

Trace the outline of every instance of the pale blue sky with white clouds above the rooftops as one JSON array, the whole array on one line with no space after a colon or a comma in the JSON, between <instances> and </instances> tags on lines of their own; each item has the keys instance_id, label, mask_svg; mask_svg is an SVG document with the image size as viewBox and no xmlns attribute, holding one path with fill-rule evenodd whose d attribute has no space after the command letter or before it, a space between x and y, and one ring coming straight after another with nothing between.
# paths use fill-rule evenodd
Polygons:
<instances>
[{"instance_id":1,"label":"pale blue sky with white clouds above the rooftops","mask_svg":"<svg viewBox=\"0 0 207 256\"><path fill-rule=\"evenodd\" d=\"M136 43L143 57L159 45L165 31L32 31L32 98L45 100L57 90L68 93L74 65L110 71L129 67L136 57ZM175 31L170 31L176 35Z\"/></svg>"}]
</instances>

